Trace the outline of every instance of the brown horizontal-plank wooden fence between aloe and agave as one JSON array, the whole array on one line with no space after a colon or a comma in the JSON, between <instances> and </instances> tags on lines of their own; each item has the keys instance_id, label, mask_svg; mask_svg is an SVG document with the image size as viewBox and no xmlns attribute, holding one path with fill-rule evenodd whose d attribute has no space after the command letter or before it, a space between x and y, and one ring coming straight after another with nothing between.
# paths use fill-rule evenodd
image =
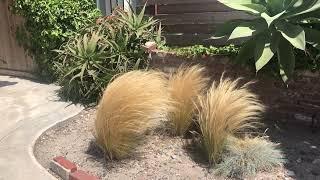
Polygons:
<instances>
[{"instance_id":1,"label":"brown horizontal-plank wooden fence between aloe and agave","mask_svg":"<svg viewBox=\"0 0 320 180\"><path fill-rule=\"evenodd\" d=\"M225 44L225 40L208 40L217 26L249 15L232 10L217 0L140 0L148 12L161 20L167 43L173 45Z\"/></svg>"}]
</instances>

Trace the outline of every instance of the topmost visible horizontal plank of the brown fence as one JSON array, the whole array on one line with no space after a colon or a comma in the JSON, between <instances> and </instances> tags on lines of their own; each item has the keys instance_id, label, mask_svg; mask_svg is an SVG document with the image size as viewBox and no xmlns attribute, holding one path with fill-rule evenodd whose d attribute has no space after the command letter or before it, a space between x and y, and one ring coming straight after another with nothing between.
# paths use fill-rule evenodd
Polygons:
<instances>
[{"instance_id":1,"label":"topmost visible horizontal plank of the brown fence","mask_svg":"<svg viewBox=\"0 0 320 180\"><path fill-rule=\"evenodd\" d=\"M158 5L158 14L181 14L221 11L232 11L232 9L218 2Z\"/></svg>"}]
</instances>

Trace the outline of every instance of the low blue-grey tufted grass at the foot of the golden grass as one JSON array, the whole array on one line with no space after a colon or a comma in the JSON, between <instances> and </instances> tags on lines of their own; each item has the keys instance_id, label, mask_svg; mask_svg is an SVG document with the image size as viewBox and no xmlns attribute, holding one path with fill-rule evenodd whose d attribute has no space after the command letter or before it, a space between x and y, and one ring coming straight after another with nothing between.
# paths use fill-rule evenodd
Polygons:
<instances>
[{"instance_id":1,"label":"low blue-grey tufted grass at the foot of the golden grass","mask_svg":"<svg viewBox=\"0 0 320 180\"><path fill-rule=\"evenodd\" d=\"M222 161L215 167L215 173L224 177L250 177L258 172L271 171L285 163L278 144L270 142L265 137L229 137L225 151Z\"/></svg>"}]
</instances>

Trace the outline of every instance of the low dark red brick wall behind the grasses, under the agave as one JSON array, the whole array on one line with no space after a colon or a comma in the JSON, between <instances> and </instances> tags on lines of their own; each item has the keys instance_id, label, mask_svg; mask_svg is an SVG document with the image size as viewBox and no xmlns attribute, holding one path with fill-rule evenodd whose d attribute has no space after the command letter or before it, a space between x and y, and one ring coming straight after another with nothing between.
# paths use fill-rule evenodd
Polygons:
<instances>
[{"instance_id":1,"label":"low dark red brick wall behind the grasses, under the agave","mask_svg":"<svg viewBox=\"0 0 320 180\"><path fill-rule=\"evenodd\" d=\"M243 77L243 83L256 81L251 87L267 105L269 118L274 118L274 113L277 113L277 117L282 118L277 120L286 120L288 115L294 116L302 113L304 116L300 120L310 121L315 111L318 108L320 110L320 104L317 104L320 102L319 73L298 71L294 79L286 86L281 78L271 77L264 73L256 74L252 70L231 63L227 56L185 58L166 52L152 54L151 66L153 68L170 72L182 64L201 64L207 67L208 75L215 81L218 81L223 73L225 77L233 79ZM301 104L302 101L306 103Z\"/></svg>"}]
</instances>

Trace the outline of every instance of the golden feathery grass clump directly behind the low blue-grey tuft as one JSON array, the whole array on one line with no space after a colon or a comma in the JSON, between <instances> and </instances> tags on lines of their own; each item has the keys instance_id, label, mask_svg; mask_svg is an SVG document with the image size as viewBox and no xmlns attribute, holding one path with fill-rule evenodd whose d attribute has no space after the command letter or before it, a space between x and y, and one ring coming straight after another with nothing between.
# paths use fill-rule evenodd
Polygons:
<instances>
[{"instance_id":1,"label":"golden feathery grass clump directly behind the low blue-grey tuft","mask_svg":"<svg viewBox=\"0 0 320 180\"><path fill-rule=\"evenodd\" d=\"M254 128L264 111L258 97L248 89L251 82L238 87L239 80L222 77L206 95L198 97L200 142L210 164L220 160L228 136Z\"/></svg>"}]
</instances>

